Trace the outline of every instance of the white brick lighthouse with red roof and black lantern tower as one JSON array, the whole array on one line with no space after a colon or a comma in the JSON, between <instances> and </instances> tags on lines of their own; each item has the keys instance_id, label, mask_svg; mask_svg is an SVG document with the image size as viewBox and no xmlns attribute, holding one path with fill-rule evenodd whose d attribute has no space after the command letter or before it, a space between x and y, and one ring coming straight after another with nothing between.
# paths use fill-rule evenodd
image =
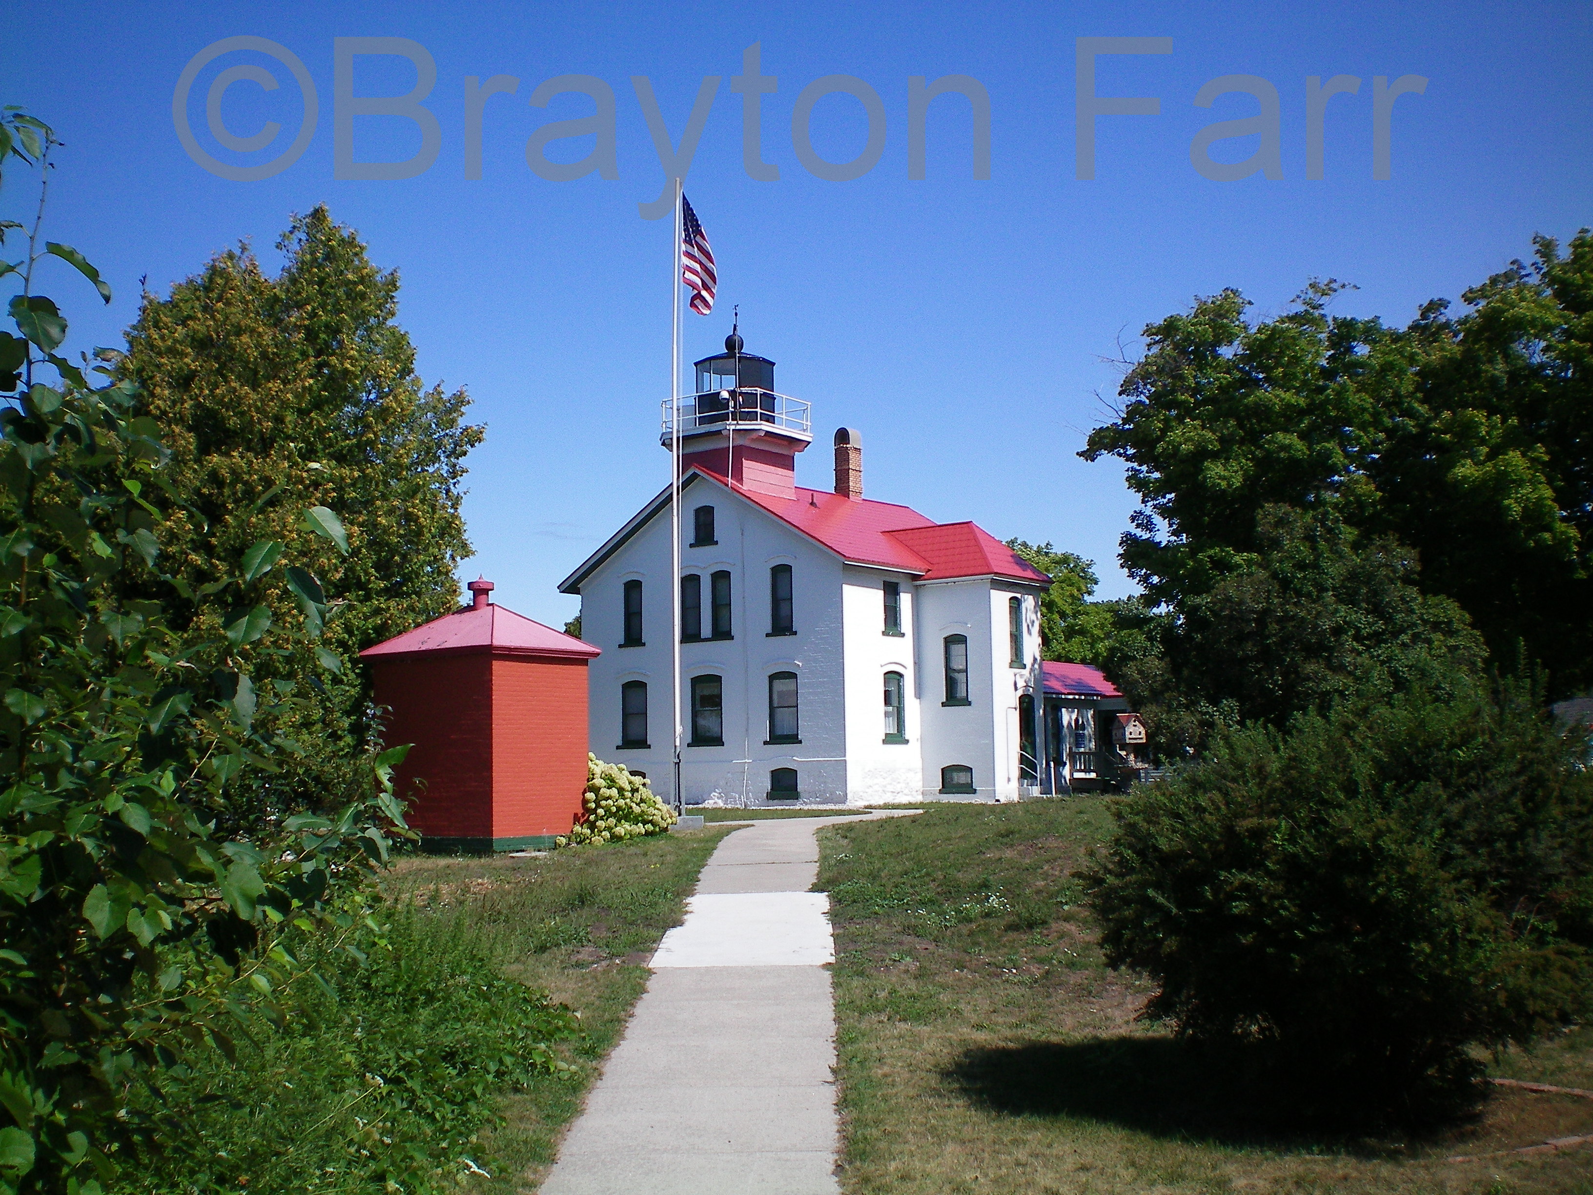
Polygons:
<instances>
[{"instance_id":1,"label":"white brick lighthouse with red roof and black lantern tower","mask_svg":"<svg viewBox=\"0 0 1593 1195\"><path fill-rule=\"evenodd\" d=\"M669 445L669 403L663 441ZM774 362L696 362L669 489L559 590L581 598L591 750L672 792L672 594L682 609L685 805L1016 800L1037 792L1039 598L1048 578L972 523L863 497L857 432L835 489L795 484L808 403Z\"/></svg>"}]
</instances>

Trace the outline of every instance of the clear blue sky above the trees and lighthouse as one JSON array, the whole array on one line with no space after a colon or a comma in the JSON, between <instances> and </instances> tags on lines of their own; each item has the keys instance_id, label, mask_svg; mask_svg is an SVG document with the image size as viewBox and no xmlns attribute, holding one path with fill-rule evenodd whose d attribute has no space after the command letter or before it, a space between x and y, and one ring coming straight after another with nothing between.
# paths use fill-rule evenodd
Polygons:
<instances>
[{"instance_id":1,"label":"clear blue sky above the trees and lighthouse","mask_svg":"<svg viewBox=\"0 0 1593 1195\"><path fill-rule=\"evenodd\" d=\"M172 94L212 43L264 37L298 56L319 123L307 150L274 177L231 182L188 153ZM424 100L441 150L405 180L335 177L333 40L395 37L436 64ZM1157 116L1098 121L1096 178L1075 178L1075 38L1168 37L1164 56L1098 62L1102 96L1155 96ZM763 159L776 182L742 170L742 100L730 91L742 49L761 45ZM1338 309L1408 320L1459 292L1534 233L1569 237L1593 223L1590 80L1593 6L1518 5L349 5L56 3L13 11L0 67L6 94L56 126L65 151L48 236L83 250L116 290L108 308L80 280L48 288L73 319L68 346L116 344L139 279L164 292L215 252L250 241L268 266L292 212L327 202L403 279L400 320L427 382L464 386L487 438L470 459L465 515L503 604L558 625L575 612L554 591L667 481L658 405L669 370L669 221L637 204L664 174L632 75L645 75L679 139L706 75L723 81L687 178L720 263L720 308L687 323L687 360L715 351L741 304L752 352L779 363L785 394L814 409L801 484L830 484L830 433L863 437L870 497L1005 539L1051 540L1096 561L1101 594L1129 591L1115 564L1133 499L1114 462L1075 453L1107 417L1139 331L1193 296L1238 287L1260 315L1282 311L1313 276L1359 285ZM236 153L205 124L205 94L236 65L244 80L221 115L234 135L282 126ZM519 80L487 100L483 177L465 178L465 76ZM991 178L970 167L959 97L929 115L927 178L908 180L908 78L972 75L989 92ZM1306 76L1360 78L1330 102L1325 177L1306 175ZM591 112L578 94L527 104L543 80L596 75L616 97L618 180L548 182L527 167L545 121ZM883 99L886 147L852 182L808 174L792 145L798 92L855 75ZM1258 75L1281 97L1282 178L1212 182L1190 142L1212 121L1251 116L1243 92L1195 107L1222 75ZM1392 178L1372 178L1373 76L1421 75L1397 100ZM414 84L401 57L355 62L354 94ZM303 123L290 72L255 53L204 67L186 112L199 145L233 164L274 158ZM421 135L392 116L354 120L354 159L405 159ZM816 151L857 156L862 105L817 104ZM1239 161L1257 137L1219 142ZM591 139L556 142L577 161ZM24 172L8 172L0 215L30 210Z\"/></svg>"}]
</instances>

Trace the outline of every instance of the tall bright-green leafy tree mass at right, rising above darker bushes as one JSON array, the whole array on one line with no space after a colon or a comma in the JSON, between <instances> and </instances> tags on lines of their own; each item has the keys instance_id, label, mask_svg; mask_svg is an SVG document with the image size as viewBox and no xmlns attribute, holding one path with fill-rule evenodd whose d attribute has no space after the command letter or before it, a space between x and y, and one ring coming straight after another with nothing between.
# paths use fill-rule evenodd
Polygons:
<instances>
[{"instance_id":1,"label":"tall bright-green leafy tree mass at right, rising above darker bushes","mask_svg":"<svg viewBox=\"0 0 1593 1195\"><path fill-rule=\"evenodd\" d=\"M1082 453L1128 464L1147 596L1179 609L1254 567L1260 513L1294 507L1415 550L1497 661L1542 661L1556 693L1593 680L1593 234L1536 244L1459 317L1330 315L1330 280L1274 320L1225 290L1147 327Z\"/></svg>"}]
</instances>

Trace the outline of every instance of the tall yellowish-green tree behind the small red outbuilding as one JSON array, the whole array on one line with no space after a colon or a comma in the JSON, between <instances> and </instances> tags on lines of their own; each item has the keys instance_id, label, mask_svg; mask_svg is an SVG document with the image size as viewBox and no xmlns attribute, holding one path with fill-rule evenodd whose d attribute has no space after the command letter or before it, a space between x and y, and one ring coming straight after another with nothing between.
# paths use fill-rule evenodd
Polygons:
<instances>
[{"instance_id":1,"label":"tall yellowish-green tree behind the small red outbuilding","mask_svg":"<svg viewBox=\"0 0 1593 1195\"><path fill-rule=\"evenodd\" d=\"M481 441L464 422L465 394L427 390L416 376L393 322L397 272L373 266L325 207L296 217L279 249L287 261L274 279L242 247L164 300L145 295L121 370L140 413L167 429L170 484L185 496L167 535L172 574L202 585L269 534L304 561L312 596L336 615L314 645L328 717L293 728L304 765L272 781L250 816L333 800L349 782L339 760L373 735L357 653L457 604L454 566L470 554L464 457ZM347 554L303 521L304 507L342 513ZM285 578L268 590L303 601Z\"/></svg>"}]
</instances>

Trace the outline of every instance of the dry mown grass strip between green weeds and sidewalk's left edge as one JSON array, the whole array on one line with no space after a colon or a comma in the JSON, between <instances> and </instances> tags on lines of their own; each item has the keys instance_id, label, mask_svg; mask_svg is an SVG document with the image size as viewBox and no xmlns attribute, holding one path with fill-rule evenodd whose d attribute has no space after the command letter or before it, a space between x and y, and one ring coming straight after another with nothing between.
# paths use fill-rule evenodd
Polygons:
<instances>
[{"instance_id":1,"label":"dry mown grass strip between green weeds and sidewalk's left edge","mask_svg":"<svg viewBox=\"0 0 1593 1195\"><path fill-rule=\"evenodd\" d=\"M575 1009L585 1029L566 1052L573 1079L537 1079L505 1096L502 1122L481 1134L476 1155L491 1177L472 1177L468 1190L521 1195L542 1184L647 986L653 948L680 924L698 872L726 833L704 827L543 857L422 856L395 867L397 897L465 907L503 969Z\"/></svg>"}]
</instances>

